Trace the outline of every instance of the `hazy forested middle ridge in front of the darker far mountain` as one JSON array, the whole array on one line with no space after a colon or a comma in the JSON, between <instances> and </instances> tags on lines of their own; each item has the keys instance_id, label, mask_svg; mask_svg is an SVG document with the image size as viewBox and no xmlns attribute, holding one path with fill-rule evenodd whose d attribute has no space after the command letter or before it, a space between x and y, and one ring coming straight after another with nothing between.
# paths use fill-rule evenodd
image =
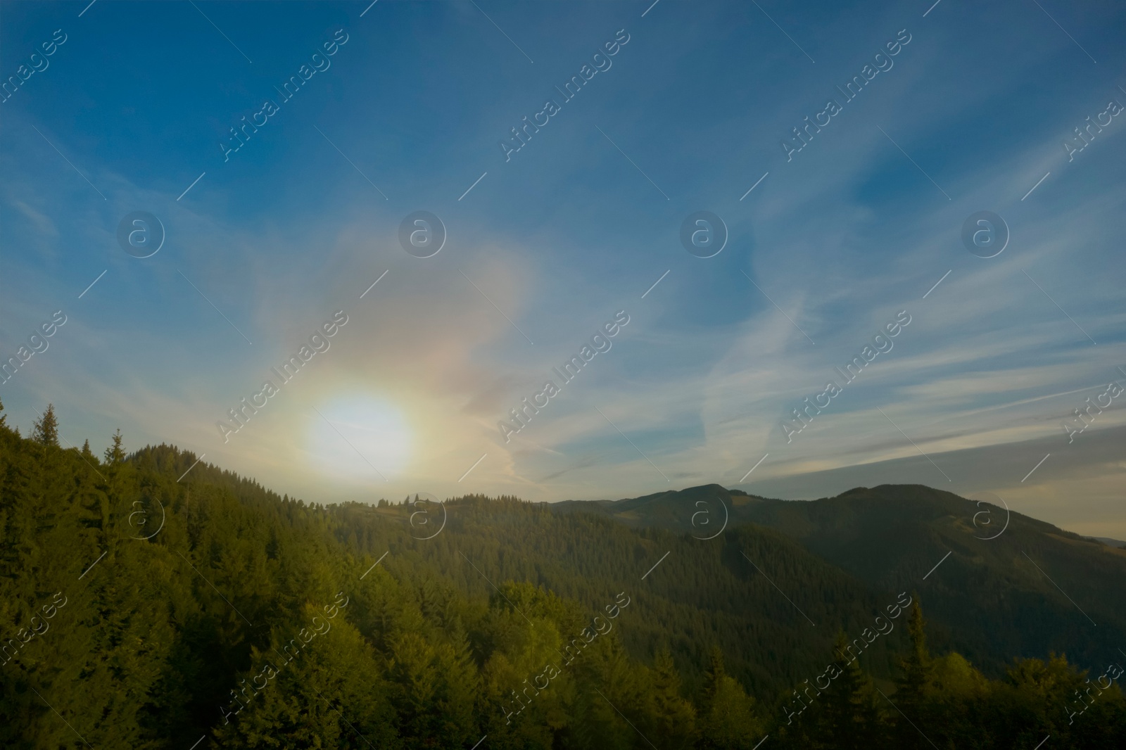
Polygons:
<instances>
[{"instance_id":1,"label":"hazy forested middle ridge in front of the darker far mountain","mask_svg":"<svg viewBox=\"0 0 1126 750\"><path fill-rule=\"evenodd\" d=\"M360 551L377 556L391 550L391 570L430 570L470 592L489 595L490 582L530 581L598 610L607 596L625 591L634 599L619 627L627 649L649 658L670 646L692 689L701 685L711 649L720 646L733 675L772 698L824 669L838 628L858 634L895 601L897 592L874 589L774 529L744 524L700 541L671 529L629 528L583 508L461 498L445 503L440 535L410 545L388 538L387 521L406 525L413 506L373 512L357 503L337 512ZM873 648L877 673L891 675L901 636ZM785 659L775 655L783 653Z\"/></svg>"}]
</instances>

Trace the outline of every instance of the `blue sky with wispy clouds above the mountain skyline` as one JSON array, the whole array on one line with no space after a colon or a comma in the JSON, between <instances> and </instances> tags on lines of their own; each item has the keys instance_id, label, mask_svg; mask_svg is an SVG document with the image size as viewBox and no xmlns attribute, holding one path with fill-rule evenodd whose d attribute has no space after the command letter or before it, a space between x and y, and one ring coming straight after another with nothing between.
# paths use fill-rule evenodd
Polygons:
<instances>
[{"instance_id":1,"label":"blue sky with wispy clouds above the mountain skyline","mask_svg":"<svg viewBox=\"0 0 1126 750\"><path fill-rule=\"evenodd\" d=\"M1124 28L5 2L3 413L316 502L918 483L1126 538Z\"/></svg>"}]
</instances>

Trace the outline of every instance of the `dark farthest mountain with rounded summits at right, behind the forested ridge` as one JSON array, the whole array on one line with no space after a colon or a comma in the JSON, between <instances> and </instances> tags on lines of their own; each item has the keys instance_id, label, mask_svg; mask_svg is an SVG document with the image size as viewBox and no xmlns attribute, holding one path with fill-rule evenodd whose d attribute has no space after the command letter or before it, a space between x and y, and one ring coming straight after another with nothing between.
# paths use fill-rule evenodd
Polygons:
<instances>
[{"instance_id":1,"label":"dark farthest mountain with rounded summits at right, behind the forested ridge","mask_svg":"<svg viewBox=\"0 0 1126 750\"><path fill-rule=\"evenodd\" d=\"M729 533L780 532L873 590L918 591L932 643L957 649L988 672L1013 655L1052 651L1094 667L1120 657L1126 642L1121 543L922 485L786 501L707 484L553 508L696 536L715 533L726 512Z\"/></svg>"}]
</instances>

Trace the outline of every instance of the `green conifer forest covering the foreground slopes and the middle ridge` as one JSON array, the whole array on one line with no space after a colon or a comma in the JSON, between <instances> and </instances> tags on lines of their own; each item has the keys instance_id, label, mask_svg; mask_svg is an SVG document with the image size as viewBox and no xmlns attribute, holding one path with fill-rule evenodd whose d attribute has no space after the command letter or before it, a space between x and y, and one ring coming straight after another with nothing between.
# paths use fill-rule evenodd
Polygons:
<instances>
[{"instance_id":1,"label":"green conifer forest covering the foreground slopes and the middle ridge","mask_svg":"<svg viewBox=\"0 0 1126 750\"><path fill-rule=\"evenodd\" d=\"M940 590L808 524L807 548L517 498L322 506L196 462L0 411L0 747L1126 745L1126 654L976 668L933 637ZM967 643L1007 611L964 611Z\"/></svg>"}]
</instances>

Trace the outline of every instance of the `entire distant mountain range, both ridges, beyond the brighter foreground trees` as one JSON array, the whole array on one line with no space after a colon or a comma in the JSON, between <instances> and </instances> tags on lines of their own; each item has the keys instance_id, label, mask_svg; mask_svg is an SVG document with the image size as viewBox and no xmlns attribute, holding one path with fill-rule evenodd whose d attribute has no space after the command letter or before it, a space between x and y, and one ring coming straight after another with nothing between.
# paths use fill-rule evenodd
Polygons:
<instances>
[{"instance_id":1,"label":"entire distant mountain range, both ridges, beyond the brighter foreground trees","mask_svg":"<svg viewBox=\"0 0 1126 750\"><path fill-rule=\"evenodd\" d=\"M709 484L623 500L463 498L445 507L443 535L410 553L421 555L418 565L470 591L530 581L591 608L607 592L636 591L624 643L642 659L669 644L691 687L712 644L759 695L793 686L832 653L837 630L856 637L902 592L923 602L936 650L956 650L993 677L1016 657L1052 652L1101 668L1126 643L1126 550L922 485L815 501ZM367 535L378 538L372 511L348 508L340 512L361 550L403 554L366 545ZM412 511L391 506L377 517L405 524ZM894 672L904 639L896 628L876 642L867 657L875 676Z\"/></svg>"}]
</instances>

